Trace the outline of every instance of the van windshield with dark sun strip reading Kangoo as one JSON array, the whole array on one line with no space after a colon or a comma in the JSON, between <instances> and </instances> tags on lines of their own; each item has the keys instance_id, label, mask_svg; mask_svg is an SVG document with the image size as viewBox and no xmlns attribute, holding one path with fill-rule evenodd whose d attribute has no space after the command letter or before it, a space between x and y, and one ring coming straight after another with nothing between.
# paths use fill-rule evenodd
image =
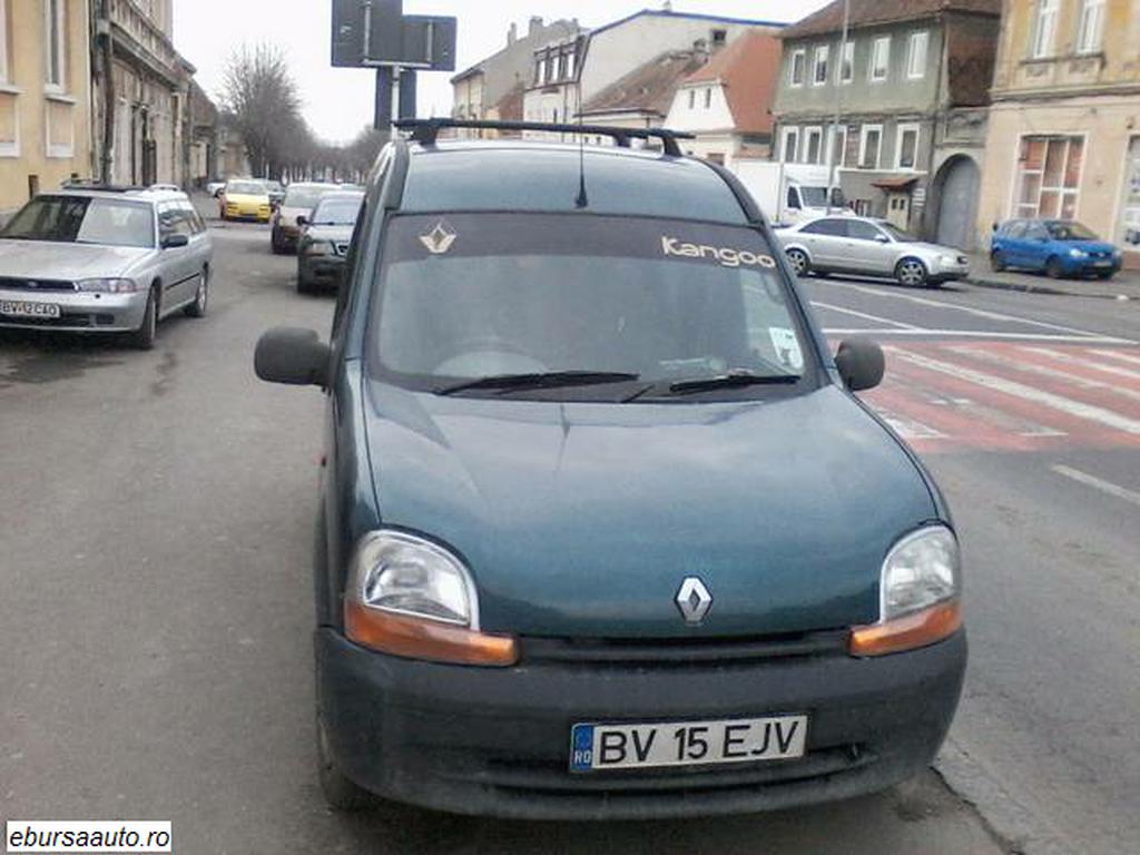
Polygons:
<instances>
[{"instance_id":1,"label":"van windshield with dark sun strip reading Kangoo","mask_svg":"<svg viewBox=\"0 0 1140 855\"><path fill-rule=\"evenodd\" d=\"M668 390L735 375L755 385L708 393L749 399L766 380L799 385L808 375L811 348L773 252L743 227L405 215L388 231L380 294L372 370L409 389L573 373ZM600 385L597 396L614 391Z\"/></svg>"}]
</instances>

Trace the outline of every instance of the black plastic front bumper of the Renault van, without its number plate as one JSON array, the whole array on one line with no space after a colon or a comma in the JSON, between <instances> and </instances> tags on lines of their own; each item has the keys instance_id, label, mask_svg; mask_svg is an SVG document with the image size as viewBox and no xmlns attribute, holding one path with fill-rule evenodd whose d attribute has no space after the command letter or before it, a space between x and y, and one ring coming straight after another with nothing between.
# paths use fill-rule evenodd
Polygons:
<instances>
[{"instance_id":1,"label":"black plastic front bumper of the Renault van, without its number plate","mask_svg":"<svg viewBox=\"0 0 1140 855\"><path fill-rule=\"evenodd\" d=\"M344 773L397 801L518 819L652 819L777 809L873 792L926 768L945 738L966 636L923 650L765 661L622 665L528 660L508 669L410 661L316 637L317 691ZM806 712L803 759L571 774L579 722Z\"/></svg>"}]
</instances>

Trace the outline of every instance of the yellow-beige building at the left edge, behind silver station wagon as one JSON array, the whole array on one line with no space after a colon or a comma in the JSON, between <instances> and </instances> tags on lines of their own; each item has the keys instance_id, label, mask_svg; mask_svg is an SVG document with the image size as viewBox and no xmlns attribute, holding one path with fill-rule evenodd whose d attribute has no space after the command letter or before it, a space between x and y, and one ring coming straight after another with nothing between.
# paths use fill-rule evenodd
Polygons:
<instances>
[{"instance_id":1,"label":"yellow-beige building at the left edge, behind silver station wagon","mask_svg":"<svg viewBox=\"0 0 1140 855\"><path fill-rule=\"evenodd\" d=\"M0 0L0 219L90 174L87 0Z\"/></svg>"}]
</instances>

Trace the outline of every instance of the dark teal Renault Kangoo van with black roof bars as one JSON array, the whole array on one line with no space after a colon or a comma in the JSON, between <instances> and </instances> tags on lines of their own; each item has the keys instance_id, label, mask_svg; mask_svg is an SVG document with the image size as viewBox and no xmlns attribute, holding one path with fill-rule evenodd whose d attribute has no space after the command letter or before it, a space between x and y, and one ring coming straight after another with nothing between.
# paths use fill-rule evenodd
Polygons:
<instances>
[{"instance_id":1,"label":"dark teal Renault Kangoo van with black roof bars","mask_svg":"<svg viewBox=\"0 0 1140 855\"><path fill-rule=\"evenodd\" d=\"M926 768L966 668L961 567L930 475L853 393L882 351L832 356L755 202L668 132L404 127L331 343L255 355L327 401L329 804L710 815Z\"/></svg>"}]
</instances>

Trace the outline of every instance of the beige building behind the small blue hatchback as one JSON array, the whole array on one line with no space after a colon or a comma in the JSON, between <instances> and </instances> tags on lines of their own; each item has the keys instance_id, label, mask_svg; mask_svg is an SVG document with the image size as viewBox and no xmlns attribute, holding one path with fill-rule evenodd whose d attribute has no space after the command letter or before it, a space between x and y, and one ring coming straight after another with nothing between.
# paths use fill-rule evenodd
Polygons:
<instances>
[{"instance_id":1,"label":"beige building behind the small blue hatchback","mask_svg":"<svg viewBox=\"0 0 1140 855\"><path fill-rule=\"evenodd\" d=\"M1009 0L978 231L1075 218L1140 267L1140 0Z\"/></svg>"}]
</instances>

